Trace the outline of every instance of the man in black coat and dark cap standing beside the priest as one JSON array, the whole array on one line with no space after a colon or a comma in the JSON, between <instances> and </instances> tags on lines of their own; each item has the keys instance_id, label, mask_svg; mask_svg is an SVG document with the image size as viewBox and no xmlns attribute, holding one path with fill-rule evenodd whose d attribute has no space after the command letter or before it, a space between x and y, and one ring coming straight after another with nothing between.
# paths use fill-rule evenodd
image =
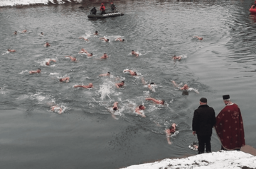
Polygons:
<instances>
[{"instance_id":1,"label":"man in black coat and dark cap standing beside the priest","mask_svg":"<svg viewBox=\"0 0 256 169\"><path fill-rule=\"evenodd\" d=\"M192 122L193 134L197 134L198 137L198 154L204 153L205 146L206 153L211 152L210 136L213 133L215 122L213 107L207 105L206 98L201 98L200 106L195 110Z\"/></svg>"}]
</instances>

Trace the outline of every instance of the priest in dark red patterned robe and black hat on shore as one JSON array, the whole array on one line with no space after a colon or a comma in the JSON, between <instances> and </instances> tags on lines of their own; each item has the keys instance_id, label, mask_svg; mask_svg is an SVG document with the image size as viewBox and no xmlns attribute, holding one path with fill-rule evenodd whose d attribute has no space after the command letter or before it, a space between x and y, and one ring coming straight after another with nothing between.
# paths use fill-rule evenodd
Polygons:
<instances>
[{"instance_id":1,"label":"priest in dark red patterned robe and black hat on shore","mask_svg":"<svg viewBox=\"0 0 256 169\"><path fill-rule=\"evenodd\" d=\"M215 130L221 142L222 150L238 150L245 146L240 108L230 101L230 95L223 95L225 107L216 117Z\"/></svg>"}]
</instances>

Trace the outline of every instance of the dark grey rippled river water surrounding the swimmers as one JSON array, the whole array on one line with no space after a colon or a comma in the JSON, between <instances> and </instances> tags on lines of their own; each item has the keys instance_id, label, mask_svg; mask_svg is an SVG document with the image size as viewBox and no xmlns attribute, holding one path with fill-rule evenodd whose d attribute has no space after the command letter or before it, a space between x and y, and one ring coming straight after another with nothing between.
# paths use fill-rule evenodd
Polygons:
<instances>
[{"instance_id":1,"label":"dark grey rippled river water surrounding the swimmers","mask_svg":"<svg viewBox=\"0 0 256 169\"><path fill-rule=\"evenodd\" d=\"M122 168L194 155L188 145L197 141L191 122L199 99L208 98L218 115L225 94L242 111L246 144L256 148L252 0L114 1L124 16L88 19L100 3L0 8L1 168ZM21 33L24 29L27 33ZM95 30L100 35L93 35ZM114 41L117 37L125 41ZM50 47L43 46L46 42ZM78 54L82 47L93 57ZM132 49L139 57L130 54ZM109 58L99 59L103 53ZM174 61L174 54L183 58ZM78 62L65 59L68 55ZM48 59L56 62L46 66ZM38 68L41 74L28 73ZM107 71L110 77L99 76ZM60 83L65 76L70 82ZM142 77L156 83L155 91L142 84ZM116 88L122 80L125 86ZM199 93L182 95L173 80ZM73 88L88 83L94 88ZM154 105L145 100L149 96L166 104ZM111 113L116 101L119 110ZM63 114L50 111L51 103ZM134 112L140 104L145 118ZM169 145L164 130L173 122L178 132ZM215 131L211 143L213 151L220 149Z\"/></svg>"}]
</instances>

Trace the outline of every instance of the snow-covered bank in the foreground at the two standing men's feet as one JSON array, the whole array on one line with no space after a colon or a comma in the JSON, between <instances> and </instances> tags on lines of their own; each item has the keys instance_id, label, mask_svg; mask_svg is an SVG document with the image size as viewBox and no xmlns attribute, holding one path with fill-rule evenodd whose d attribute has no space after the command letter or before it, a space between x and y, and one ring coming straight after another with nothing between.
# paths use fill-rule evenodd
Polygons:
<instances>
[{"instance_id":1,"label":"snow-covered bank in the foreground at the two standing men's feet","mask_svg":"<svg viewBox=\"0 0 256 169\"><path fill-rule=\"evenodd\" d=\"M126 169L171 169L171 168L242 168L255 169L256 156L242 151L218 151L180 159L164 159L154 163L132 165Z\"/></svg>"}]
</instances>

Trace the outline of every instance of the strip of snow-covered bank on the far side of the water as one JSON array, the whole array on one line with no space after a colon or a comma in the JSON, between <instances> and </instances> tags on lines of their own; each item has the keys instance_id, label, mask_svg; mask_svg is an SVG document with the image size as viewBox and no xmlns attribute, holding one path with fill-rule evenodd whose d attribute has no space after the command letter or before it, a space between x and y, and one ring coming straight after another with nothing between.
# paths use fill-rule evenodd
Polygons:
<instances>
[{"instance_id":1,"label":"strip of snow-covered bank on the far side of the water","mask_svg":"<svg viewBox=\"0 0 256 169\"><path fill-rule=\"evenodd\" d=\"M1 0L1 6L29 6L34 4L64 4L65 2L80 3L82 0Z\"/></svg>"}]
</instances>

